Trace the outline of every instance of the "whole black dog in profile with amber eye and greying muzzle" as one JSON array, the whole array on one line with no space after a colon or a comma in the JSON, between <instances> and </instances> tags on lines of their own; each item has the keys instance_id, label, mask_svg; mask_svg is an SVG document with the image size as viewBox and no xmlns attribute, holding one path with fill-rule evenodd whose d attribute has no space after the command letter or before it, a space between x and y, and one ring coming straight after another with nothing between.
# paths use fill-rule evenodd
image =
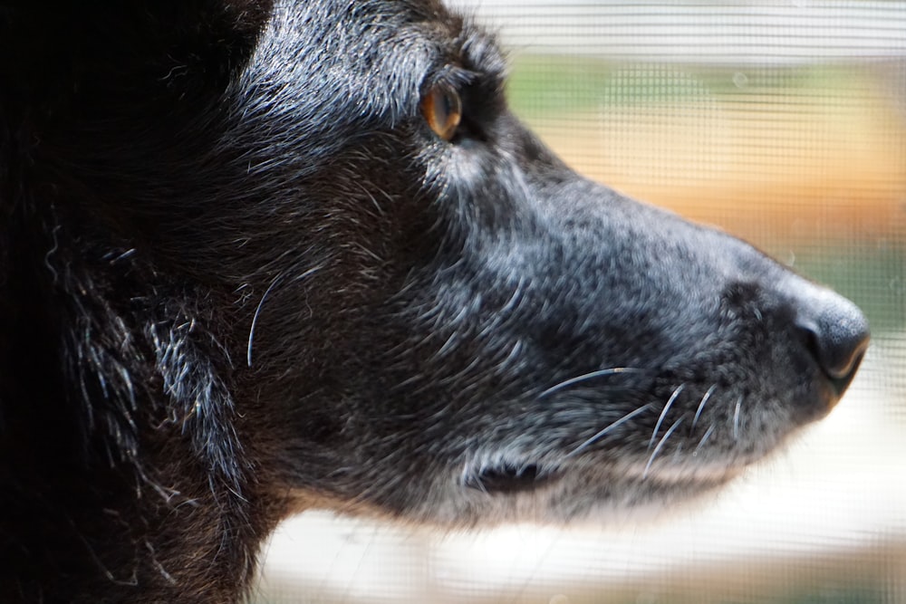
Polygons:
<instances>
[{"instance_id":1,"label":"whole black dog in profile with amber eye and greying muzzle","mask_svg":"<svg viewBox=\"0 0 906 604\"><path fill-rule=\"evenodd\" d=\"M863 316L566 168L434 0L0 2L0 600L241 599L294 510L568 522L823 417Z\"/></svg>"}]
</instances>

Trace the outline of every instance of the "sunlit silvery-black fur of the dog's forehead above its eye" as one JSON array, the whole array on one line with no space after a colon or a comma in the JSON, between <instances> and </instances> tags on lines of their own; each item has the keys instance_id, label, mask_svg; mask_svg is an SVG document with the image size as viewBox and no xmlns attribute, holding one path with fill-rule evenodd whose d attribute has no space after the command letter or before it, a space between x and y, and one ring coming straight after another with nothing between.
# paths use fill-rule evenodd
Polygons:
<instances>
[{"instance_id":1,"label":"sunlit silvery-black fur of the dog's forehead above its eye","mask_svg":"<svg viewBox=\"0 0 906 604\"><path fill-rule=\"evenodd\" d=\"M291 93L313 119L330 108L335 120L342 105L392 126L418 107L432 73L476 48L469 68L482 71L474 63L492 54L492 36L433 0L278 2L241 85L277 102Z\"/></svg>"}]
</instances>

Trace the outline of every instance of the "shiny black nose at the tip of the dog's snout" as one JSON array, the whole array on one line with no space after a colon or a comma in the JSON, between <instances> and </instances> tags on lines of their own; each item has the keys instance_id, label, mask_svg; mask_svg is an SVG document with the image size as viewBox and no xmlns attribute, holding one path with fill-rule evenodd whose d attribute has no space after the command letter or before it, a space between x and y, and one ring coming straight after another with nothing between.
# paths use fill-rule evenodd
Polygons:
<instances>
[{"instance_id":1,"label":"shiny black nose at the tip of the dog's snout","mask_svg":"<svg viewBox=\"0 0 906 604\"><path fill-rule=\"evenodd\" d=\"M853 381L868 348L868 321L853 302L830 290L809 286L799 297L795 325L818 366L838 395Z\"/></svg>"}]
</instances>

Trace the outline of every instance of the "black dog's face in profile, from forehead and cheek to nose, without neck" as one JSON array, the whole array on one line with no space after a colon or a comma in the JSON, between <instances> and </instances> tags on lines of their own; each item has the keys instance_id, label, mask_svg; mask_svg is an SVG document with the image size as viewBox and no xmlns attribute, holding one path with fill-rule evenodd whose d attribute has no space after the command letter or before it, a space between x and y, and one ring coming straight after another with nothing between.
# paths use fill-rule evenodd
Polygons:
<instances>
[{"instance_id":1,"label":"black dog's face in profile, from forehead and cheek to nose, without neck","mask_svg":"<svg viewBox=\"0 0 906 604\"><path fill-rule=\"evenodd\" d=\"M226 92L234 176L201 225L243 244L205 272L243 293L239 391L274 419L286 484L560 521L721 484L823 417L861 313L578 176L505 77L439 5L277 5Z\"/></svg>"}]
</instances>

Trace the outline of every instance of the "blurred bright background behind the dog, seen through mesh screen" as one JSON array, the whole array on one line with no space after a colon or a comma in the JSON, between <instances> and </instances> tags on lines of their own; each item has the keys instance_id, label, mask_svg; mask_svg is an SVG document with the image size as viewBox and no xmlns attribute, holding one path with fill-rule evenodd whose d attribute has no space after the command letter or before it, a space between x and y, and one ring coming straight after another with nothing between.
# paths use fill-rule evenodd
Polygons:
<instances>
[{"instance_id":1,"label":"blurred bright background behind the dog, seen through mesh screen","mask_svg":"<svg viewBox=\"0 0 906 604\"><path fill-rule=\"evenodd\" d=\"M447 535L306 513L255 601L906 603L906 2L454 4L573 167L830 284L872 349L831 417L716 499Z\"/></svg>"}]
</instances>

